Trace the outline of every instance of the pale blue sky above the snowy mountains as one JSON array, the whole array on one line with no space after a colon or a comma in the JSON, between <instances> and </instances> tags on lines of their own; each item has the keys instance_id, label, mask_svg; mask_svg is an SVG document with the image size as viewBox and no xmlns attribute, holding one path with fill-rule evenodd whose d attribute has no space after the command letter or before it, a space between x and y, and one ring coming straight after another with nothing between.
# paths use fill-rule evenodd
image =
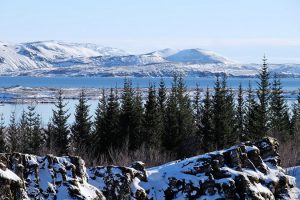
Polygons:
<instances>
[{"instance_id":1,"label":"pale blue sky above the snowy mountains","mask_svg":"<svg viewBox=\"0 0 300 200\"><path fill-rule=\"evenodd\" d=\"M132 53L201 48L240 63L300 63L299 0L2 0L0 40Z\"/></svg>"}]
</instances>

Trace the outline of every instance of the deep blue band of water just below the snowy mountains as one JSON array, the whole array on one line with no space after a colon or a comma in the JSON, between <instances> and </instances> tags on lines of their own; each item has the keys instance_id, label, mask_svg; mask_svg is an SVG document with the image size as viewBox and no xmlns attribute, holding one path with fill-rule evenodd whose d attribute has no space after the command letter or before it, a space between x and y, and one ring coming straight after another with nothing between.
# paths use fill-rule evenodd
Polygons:
<instances>
[{"instance_id":1,"label":"deep blue band of water just below the snowy mountains","mask_svg":"<svg viewBox=\"0 0 300 200\"><path fill-rule=\"evenodd\" d=\"M150 82L158 85L160 78L134 77L130 78L134 86L148 87ZM164 78L166 86L170 87L172 78ZM194 88L196 84L200 87L213 87L216 78L214 77L185 77L187 87ZM0 87L27 86L27 87L53 87L53 88L110 88L122 87L124 77L0 77ZM228 78L228 86L237 88L240 83L248 87L249 81L252 87L256 87L256 78ZM282 85L285 90L298 90L300 78L282 78Z\"/></svg>"}]
</instances>

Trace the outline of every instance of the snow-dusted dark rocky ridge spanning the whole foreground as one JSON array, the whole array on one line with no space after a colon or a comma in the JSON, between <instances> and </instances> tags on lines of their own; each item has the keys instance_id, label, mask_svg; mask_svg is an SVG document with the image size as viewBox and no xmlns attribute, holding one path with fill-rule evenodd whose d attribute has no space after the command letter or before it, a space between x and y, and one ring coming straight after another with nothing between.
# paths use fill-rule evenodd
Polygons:
<instances>
[{"instance_id":1,"label":"snow-dusted dark rocky ridge spanning the whole foreground","mask_svg":"<svg viewBox=\"0 0 300 200\"><path fill-rule=\"evenodd\" d=\"M264 138L149 169L142 162L86 169L79 157L2 154L0 183L5 184L0 184L0 195L15 199L292 199L295 182L280 167L278 147L275 139ZM2 175L3 171L14 176Z\"/></svg>"}]
</instances>

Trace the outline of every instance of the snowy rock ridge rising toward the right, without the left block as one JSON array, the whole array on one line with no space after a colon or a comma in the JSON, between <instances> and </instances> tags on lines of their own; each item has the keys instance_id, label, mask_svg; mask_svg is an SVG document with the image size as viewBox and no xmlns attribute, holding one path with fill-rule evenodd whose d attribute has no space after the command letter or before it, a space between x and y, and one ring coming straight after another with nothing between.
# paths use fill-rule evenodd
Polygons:
<instances>
[{"instance_id":1,"label":"snowy rock ridge rising toward the right, without the left block","mask_svg":"<svg viewBox=\"0 0 300 200\"><path fill-rule=\"evenodd\" d=\"M89 183L112 199L293 199L273 138L158 167L89 168Z\"/></svg>"}]
</instances>

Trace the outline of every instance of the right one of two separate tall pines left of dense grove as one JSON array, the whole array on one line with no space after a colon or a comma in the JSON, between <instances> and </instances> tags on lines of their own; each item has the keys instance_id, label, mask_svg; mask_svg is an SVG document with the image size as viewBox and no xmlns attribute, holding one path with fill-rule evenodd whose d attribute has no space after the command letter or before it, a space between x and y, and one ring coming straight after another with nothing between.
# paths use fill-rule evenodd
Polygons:
<instances>
[{"instance_id":1,"label":"right one of two separate tall pines left of dense grove","mask_svg":"<svg viewBox=\"0 0 300 200\"><path fill-rule=\"evenodd\" d=\"M90 145L91 117L89 116L89 105L84 90L81 91L78 104L75 107L75 122L71 127L75 152L87 150Z\"/></svg>"}]
</instances>

